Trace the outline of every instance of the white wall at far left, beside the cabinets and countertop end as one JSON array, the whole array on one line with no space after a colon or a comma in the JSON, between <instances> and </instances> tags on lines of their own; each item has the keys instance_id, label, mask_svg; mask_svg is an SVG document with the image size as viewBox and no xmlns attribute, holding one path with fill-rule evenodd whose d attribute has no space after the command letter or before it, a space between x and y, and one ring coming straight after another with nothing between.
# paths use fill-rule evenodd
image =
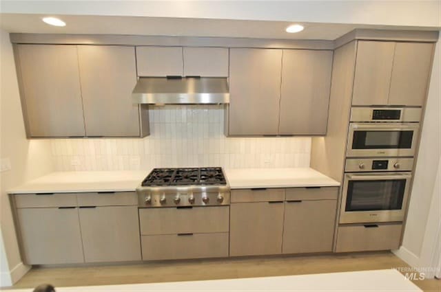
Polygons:
<instances>
[{"instance_id":1,"label":"white wall at far left, beside the cabinets and countertop end","mask_svg":"<svg viewBox=\"0 0 441 292\"><path fill-rule=\"evenodd\" d=\"M8 284L8 280L17 281L27 271L21 262L6 190L51 172L52 157L48 140L30 141L25 137L12 45L7 32L0 30L0 38L0 157L9 158L12 166L11 170L0 172L0 223L3 238L0 240L0 251L6 251L8 262L5 265L3 256L0 258L0 285L3 286ZM7 271L5 267L8 267Z\"/></svg>"}]
</instances>

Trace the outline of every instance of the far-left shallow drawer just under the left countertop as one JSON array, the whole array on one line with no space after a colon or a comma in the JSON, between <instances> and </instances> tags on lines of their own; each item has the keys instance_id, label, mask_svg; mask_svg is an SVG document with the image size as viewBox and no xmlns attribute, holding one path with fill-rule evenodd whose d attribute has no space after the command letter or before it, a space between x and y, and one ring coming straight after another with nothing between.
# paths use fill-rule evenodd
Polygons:
<instances>
[{"instance_id":1,"label":"far-left shallow drawer just under the left countertop","mask_svg":"<svg viewBox=\"0 0 441 292\"><path fill-rule=\"evenodd\" d=\"M15 194L14 200L17 208L76 206L76 194Z\"/></svg>"}]
</instances>

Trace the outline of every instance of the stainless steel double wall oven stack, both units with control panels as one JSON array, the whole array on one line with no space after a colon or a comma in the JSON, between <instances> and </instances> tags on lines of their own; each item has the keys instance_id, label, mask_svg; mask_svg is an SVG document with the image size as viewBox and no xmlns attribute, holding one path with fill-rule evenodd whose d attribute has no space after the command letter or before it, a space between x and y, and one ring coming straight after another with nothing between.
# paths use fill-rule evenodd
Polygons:
<instances>
[{"instance_id":1,"label":"stainless steel double wall oven stack, both units with control panels","mask_svg":"<svg viewBox=\"0 0 441 292\"><path fill-rule=\"evenodd\" d=\"M402 221L420 108L351 109L340 223Z\"/></svg>"}]
</instances>

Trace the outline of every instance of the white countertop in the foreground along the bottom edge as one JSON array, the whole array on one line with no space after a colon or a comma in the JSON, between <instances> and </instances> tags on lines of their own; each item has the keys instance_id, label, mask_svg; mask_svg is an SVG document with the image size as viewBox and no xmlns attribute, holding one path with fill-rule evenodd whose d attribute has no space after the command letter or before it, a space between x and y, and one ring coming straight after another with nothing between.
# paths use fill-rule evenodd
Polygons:
<instances>
[{"instance_id":1,"label":"white countertop in the foreground along the bottom edge","mask_svg":"<svg viewBox=\"0 0 441 292\"><path fill-rule=\"evenodd\" d=\"M50 282L50 281L49 281ZM55 287L59 292L95 291L422 291L395 269L188 282ZM5 290L32 292L33 289Z\"/></svg>"}]
</instances>

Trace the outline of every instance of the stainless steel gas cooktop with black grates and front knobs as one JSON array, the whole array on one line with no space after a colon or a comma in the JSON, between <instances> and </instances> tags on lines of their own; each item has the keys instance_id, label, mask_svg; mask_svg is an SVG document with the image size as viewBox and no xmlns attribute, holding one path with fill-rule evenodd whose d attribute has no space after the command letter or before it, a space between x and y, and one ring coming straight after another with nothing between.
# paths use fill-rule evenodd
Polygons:
<instances>
[{"instance_id":1,"label":"stainless steel gas cooktop with black grates and front knobs","mask_svg":"<svg viewBox=\"0 0 441 292\"><path fill-rule=\"evenodd\" d=\"M136 188L139 207L229 205L222 168L154 168Z\"/></svg>"}]
</instances>

